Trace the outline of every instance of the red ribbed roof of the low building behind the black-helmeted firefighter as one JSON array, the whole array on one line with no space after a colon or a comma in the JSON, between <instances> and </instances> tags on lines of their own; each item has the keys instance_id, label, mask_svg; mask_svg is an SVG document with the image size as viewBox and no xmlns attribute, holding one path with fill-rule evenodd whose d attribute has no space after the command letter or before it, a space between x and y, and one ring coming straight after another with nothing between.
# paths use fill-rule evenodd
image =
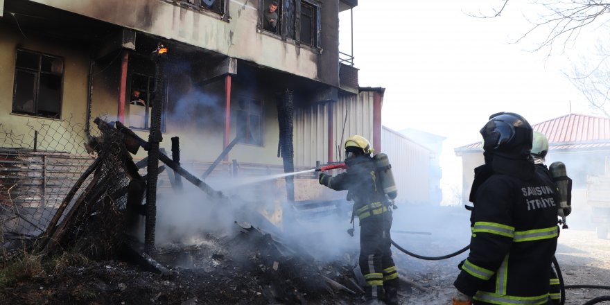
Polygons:
<instances>
[{"instance_id":1,"label":"red ribbed roof of the low building behind the black-helmeted firefighter","mask_svg":"<svg viewBox=\"0 0 610 305\"><path fill-rule=\"evenodd\" d=\"M610 119L584 114L566 114L532 125L548 139L549 150L610 148ZM455 148L456 153L481 150L482 143Z\"/></svg>"}]
</instances>

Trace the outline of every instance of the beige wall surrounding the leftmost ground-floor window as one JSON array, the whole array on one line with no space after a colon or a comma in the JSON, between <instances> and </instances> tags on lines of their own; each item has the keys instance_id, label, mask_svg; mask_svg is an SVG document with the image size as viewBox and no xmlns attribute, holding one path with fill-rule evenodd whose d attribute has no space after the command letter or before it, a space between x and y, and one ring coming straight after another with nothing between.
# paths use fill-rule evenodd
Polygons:
<instances>
[{"instance_id":1,"label":"beige wall surrounding the leftmost ground-floor window","mask_svg":"<svg viewBox=\"0 0 610 305\"><path fill-rule=\"evenodd\" d=\"M19 32L8 30L8 28L3 26L0 26L0 37L0 53L3 54L0 56L0 123L3 130L12 131L15 134L26 134L26 137L33 137L33 135L29 134L32 128L29 128L28 125L36 127L40 124L55 122L53 125L57 125L58 129L54 130L53 134L49 134L49 137L61 138L63 134L72 134L71 137L80 137L84 141L85 110L87 108L86 76L89 72L87 54L69 46L42 40L33 33L28 33L26 38ZM64 78L60 120L11 114L17 48L48 53L63 58ZM38 148L46 150L46 143L48 141L42 141L42 139L47 136L44 134L44 130L47 129L40 128L40 130L42 133L38 134ZM33 143L33 141L24 139L24 143Z\"/></svg>"}]
</instances>

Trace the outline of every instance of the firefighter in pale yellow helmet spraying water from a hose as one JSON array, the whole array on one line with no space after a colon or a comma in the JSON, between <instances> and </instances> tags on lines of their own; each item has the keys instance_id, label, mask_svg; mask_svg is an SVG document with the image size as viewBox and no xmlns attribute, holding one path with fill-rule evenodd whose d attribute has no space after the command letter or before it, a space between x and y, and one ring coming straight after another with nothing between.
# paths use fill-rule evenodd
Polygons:
<instances>
[{"instance_id":1,"label":"firefighter in pale yellow helmet spraying water from a hose","mask_svg":"<svg viewBox=\"0 0 610 305\"><path fill-rule=\"evenodd\" d=\"M348 190L347 200L354 201L352 221L360 223L358 263L367 282L367 304L398 304L399 279L390 251L392 209L386 198L371 154L374 149L359 135L345 141L347 171L331 176L320 174L320 184L336 191Z\"/></svg>"}]
</instances>

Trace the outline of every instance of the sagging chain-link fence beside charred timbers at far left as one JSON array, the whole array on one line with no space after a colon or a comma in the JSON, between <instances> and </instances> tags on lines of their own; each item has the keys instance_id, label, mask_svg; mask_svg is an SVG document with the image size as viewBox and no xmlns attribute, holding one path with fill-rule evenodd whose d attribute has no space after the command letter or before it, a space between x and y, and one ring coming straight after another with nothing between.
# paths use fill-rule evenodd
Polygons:
<instances>
[{"instance_id":1,"label":"sagging chain-link fence beside charred timbers at far left","mask_svg":"<svg viewBox=\"0 0 610 305\"><path fill-rule=\"evenodd\" d=\"M131 159L123 134L98 126L87 137L71 120L30 119L18 131L0 124L0 258L58 245L115 249Z\"/></svg>"}]
</instances>

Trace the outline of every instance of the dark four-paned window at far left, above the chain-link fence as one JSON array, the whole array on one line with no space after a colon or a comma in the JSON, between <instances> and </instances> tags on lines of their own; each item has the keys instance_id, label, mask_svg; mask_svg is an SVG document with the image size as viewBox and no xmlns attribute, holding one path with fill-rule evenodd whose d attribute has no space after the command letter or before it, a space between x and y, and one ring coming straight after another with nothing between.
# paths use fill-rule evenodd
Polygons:
<instances>
[{"instance_id":1,"label":"dark four-paned window at far left, above the chain-link fence","mask_svg":"<svg viewBox=\"0 0 610 305\"><path fill-rule=\"evenodd\" d=\"M17 50L12 112L60 119L64 60Z\"/></svg>"}]
</instances>

